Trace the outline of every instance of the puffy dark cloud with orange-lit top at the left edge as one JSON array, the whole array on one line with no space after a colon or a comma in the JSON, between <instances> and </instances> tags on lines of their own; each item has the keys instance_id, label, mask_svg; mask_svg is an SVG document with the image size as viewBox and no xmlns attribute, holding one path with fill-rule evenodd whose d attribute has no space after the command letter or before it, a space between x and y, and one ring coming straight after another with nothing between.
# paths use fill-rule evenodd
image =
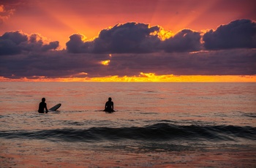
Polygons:
<instances>
[{"instance_id":1,"label":"puffy dark cloud with orange-lit top at the left edge","mask_svg":"<svg viewBox=\"0 0 256 168\"><path fill-rule=\"evenodd\" d=\"M45 52L55 50L59 42L46 42L39 34L24 34L22 31L6 32L0 37L0 56L22 52Z\"/></svg>"}]
</instances>

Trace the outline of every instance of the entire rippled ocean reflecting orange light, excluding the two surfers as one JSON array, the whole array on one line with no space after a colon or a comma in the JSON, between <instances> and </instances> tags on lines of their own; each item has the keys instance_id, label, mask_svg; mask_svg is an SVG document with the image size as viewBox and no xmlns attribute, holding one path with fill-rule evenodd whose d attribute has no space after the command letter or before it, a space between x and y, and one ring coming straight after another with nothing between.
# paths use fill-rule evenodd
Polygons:
<instances>
[{"instance_id":1,"label":"entire rippled ocean reflecting orange light, excluding the two surfers","mask_svg":"<svg viewBox=\"0 0 256 168\"><path fill-rule=\"evenodd\" d=\"M0 88L0 167L256 167L255 83Z\"/></svg>"}]
</instances>

